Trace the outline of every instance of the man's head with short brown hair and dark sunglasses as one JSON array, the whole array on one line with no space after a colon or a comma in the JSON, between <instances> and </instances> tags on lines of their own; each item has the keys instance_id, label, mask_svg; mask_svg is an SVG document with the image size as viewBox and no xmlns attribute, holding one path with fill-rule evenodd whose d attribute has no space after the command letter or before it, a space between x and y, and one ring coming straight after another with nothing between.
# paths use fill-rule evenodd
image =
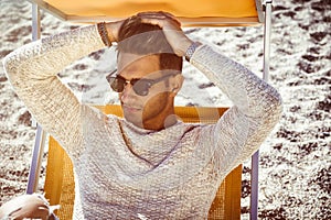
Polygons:
<instances>
[{"instance_id":1,"label":"man's head with short brown hair and dark sunglasses","mask_svg":"<svg viewBox=\"0 0 331 220\"><path fill-rule=\"evenodd\" d=\"M172 125L173 99L183 82L182 57L173 53L163 31L139 16L127 19L118 33L117 64L116 82L125 81L119 99L126 120L149 130Z\"/></svg>"}]
</instances>

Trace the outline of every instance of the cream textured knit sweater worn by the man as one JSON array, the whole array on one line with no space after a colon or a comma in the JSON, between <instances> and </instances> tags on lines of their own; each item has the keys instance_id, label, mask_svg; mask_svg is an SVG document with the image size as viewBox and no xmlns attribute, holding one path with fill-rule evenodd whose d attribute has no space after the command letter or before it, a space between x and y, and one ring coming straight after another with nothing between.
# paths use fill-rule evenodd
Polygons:
<instances>
[{"instance_id":1,"label":"cream textured knit sweater worn by the man","mask_svg":"<svg viewBox=\"0 0 331 220\"><path fill-rule=\"evenodd\" d=\"M279 94L207 45L191 64L233 101L216 124L143 130L81 103L57 77L104 47L95 25L24 45L4 58L15 92L74 163L74 219L206 219L225 176L277 123Z\"/></svg>"}]
</instances>

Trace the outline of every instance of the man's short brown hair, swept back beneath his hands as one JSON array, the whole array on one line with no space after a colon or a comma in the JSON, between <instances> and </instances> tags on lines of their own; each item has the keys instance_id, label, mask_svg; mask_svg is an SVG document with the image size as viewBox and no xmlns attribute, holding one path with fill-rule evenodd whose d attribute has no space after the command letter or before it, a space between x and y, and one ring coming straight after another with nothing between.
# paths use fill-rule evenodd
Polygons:
<instances>
[{"instance_id":1,"label":"man's short brown hair, swept back beneath his hands","mask_svg":"<svg viewBox=\"0 0 331 220\"><path fill-rule=\"evenodd\" d=\"M119 29L118 52L156 54L160 56L160 69L182 70L183 58L175 55L161 28L142 23L138 15L125 20Z\"/></svg>"}]
</instances>

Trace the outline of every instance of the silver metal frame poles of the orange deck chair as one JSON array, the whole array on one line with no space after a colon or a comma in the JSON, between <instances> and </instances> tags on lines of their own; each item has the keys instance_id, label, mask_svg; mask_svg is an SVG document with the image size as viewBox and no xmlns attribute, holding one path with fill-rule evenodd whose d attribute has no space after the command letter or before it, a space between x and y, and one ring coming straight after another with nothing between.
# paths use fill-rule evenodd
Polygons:
<instances>
[{"instance_id":1,"label":"silver metal frame poles of the orange deck chair","mask_svg":"<svg viewBox=\"0 0 331 220\"><path fill-rule=\"evenodd\" d=\"M28 0L32 3L32 40L36 41L40 38L41 33L41 18L40 18L40 9L43 9L47 12L51 12L53 15L64 19L63 16L56 15L56 10L51 9L49 6L45 6L40 0ZM269 56L270 56L270 33L271 33L271 7L273 0L266 0L264 2L264 14L259 13L259 20L264 21L264 66L263 66L263 79L268 81L269 78ZM76 21L83 21L82 19ZM95 20L97 21L97 20ZM218 21L213 21L209 23L190 23L188 22L189 26L217 26ZM234 22L227 22L227 26L236 26ZM252 25L246 23L245 25ZM221 26L218 24L218 26ZM26 194L33 194L36 191L39 185L39 176L41 170L41 162L42 155L44 152L44 144L46 134L43 132L42 128L36 124L36 134L35 134L35 142L33 146L29 179L28 179L28 187ZM252 172L250 172L250 219L257 220L258 218L258 161L259 161L259 153L258 151L252 156Z\"/></svg>"}]
</instances>

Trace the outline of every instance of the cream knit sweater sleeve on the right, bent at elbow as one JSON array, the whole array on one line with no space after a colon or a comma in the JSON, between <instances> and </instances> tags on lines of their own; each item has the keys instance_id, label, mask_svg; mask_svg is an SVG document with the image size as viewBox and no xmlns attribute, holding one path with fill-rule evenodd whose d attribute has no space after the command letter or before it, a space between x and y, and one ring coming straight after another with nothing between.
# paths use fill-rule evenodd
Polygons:
<instances>
[{"instance_id":1,"label":"cream knit sweater sleeve on the right, bent at elbow","mask_svg":"<svg viewBox=\"0 0 331 220\"><path fill-rule=\"evenodd\" d=\"M270 133L281 114L281 98L266 81L207 45L197 48L191 63L234 103L215 125L205 127L207 135L201 140L213 152L216 168L226 175Z\"/></svg>"}]
</instances>

